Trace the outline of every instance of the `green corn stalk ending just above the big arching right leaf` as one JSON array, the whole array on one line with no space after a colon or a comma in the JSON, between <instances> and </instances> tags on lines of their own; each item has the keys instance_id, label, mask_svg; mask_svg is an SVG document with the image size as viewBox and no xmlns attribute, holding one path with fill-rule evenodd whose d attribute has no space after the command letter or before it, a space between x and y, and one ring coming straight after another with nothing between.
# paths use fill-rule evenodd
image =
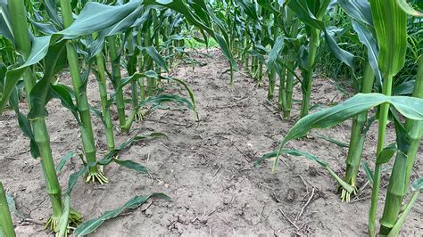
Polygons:
<instances>
[{"instance_id":1,"label":"green corn stalk ending just above the big arching right leaf","mask_svg":"<svg viewBox=\"0 0 423 237\"><path fill-rule=\"evenodd\" d=\"M311 29L311 39L309 43L309 54L307 55L306 71L303 71L303 104L300 117L303 118L309 113L309 104L311 99L311 85L314 71L314 61L319 48L320 30Z\"/></svg>"}]
</instances>

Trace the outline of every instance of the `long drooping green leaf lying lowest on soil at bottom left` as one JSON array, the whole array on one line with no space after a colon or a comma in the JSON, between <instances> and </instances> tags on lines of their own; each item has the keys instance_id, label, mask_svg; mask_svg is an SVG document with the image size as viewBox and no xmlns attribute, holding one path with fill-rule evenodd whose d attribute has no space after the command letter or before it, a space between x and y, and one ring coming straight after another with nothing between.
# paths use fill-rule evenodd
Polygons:
<instances>
[{"instance_id":1,"label":"long drooping green leaf lying lowest on soil at bottom left","mask_svg":"<svg viewBox=\"0 0 423 237\"><path fill-rule=\"evenodd\" d=\"M100 225L104 223L104 221L108 219L112 219L114 217L118 217L120 213L122 213L126 209L135 209L145 203L145 201L151 198L159 198L163 200L170 200L170 197L166 196L163 193L153 193L150 196L135 196L129 201L127 201L123 206L120 208L116 208L113 210L109 210L104 212L101 217L97 217L91 220L87 220L86 222L79 225L76 229L74 234L76 236L83 236L87 235L88 233L93 233Z\"/></svg>"}]
</instances>

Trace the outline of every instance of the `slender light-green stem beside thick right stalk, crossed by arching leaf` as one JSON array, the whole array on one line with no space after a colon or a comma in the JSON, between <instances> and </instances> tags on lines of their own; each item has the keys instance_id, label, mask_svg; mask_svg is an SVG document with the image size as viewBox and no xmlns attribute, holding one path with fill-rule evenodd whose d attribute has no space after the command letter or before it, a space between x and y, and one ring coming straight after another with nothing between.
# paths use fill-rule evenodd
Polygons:
<instances>
[{"instance_id":1,"label":"slender light-green stem beside thick right stalk, crossed by arching leaf","mask_svg":"<svg viewBox=\"0 0 423 237\"><path fill-rule=\"evenodd\" d=\"M393 76L387 75L386 81L383 85L383 94L391 95L392 94L392 84ZM385 138L386 138L386 125L388 122L388 113L389 113L389 103L383 103L379 107L379 125L378 125L378 136L377 136L377 152L376 157L380 154L381 151L385 148ZM375 236L375 223L377 215L377 201L379 199L379 189L380 189L380 174L381 174L381 165L375 165L375 172L373 175L373 190L371 192L371 204L369 211L369 233L371 236Z\"/></svg>"}]
</instances>

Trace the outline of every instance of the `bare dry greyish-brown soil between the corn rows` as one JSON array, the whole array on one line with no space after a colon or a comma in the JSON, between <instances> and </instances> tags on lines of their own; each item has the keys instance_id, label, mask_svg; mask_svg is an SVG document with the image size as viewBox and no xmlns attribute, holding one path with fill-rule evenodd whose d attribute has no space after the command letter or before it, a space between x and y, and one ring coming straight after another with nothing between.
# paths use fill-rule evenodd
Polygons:
<instances>
[{"instance_id":1,"label":"bare dry greyish-brown soil between the corn rows","mask_svg":"<svg viewBox=\"0 0 423 237\"><path fill-rule=\"evenodd\" d=\"M132 159L145 165L150 175L111 164L105 168L110 183L85 184L79 180L72 193L71 206L85 219L98 217L104 211L118 208L135 195L163 192L171 201L151 203L126 211L120 217L104 222L93 236L138 235L368 235L370 187L347 204L339 199L336 182L316 163L293 156L284 156L278 172L270 174L271 162L261 168L254 160L274 151L278 141L298 118L300 102L294 103L293 118L280 119L274 112L276 103L267 102L266 86L256 86L253 79L236 73L235 86L229 86L228 61L215 49L211 57L195 55L205 65L179 65L171 75L183 78L193 89L200 121L190 110L153 110L145 120L137 122L129 135L117 135L123 143L137 134L162 132L166 139L136 143L120 152L120 159ZM69 73L62 82L69 83ZM166 86L166 84L164 84ZM95 78L88 83L88 97L93 105L99 103ZM187 94L178 86L166 86L171 93ZM278 90L277 90L278 91ZM294 99L301 100L297 86ZM311 102L323 107L341 102L345 95L325 78L315 78ZM21 104L22 108L25 103ZM175 107L175 106L172 106ZM25 108L23 108L25 109ZM319 109L316 109L319 110ZM56 164L68 151L81 152L79 128L60 102L48 104L48 129ZM315 110L314 110L315 111ZM311 112L314 112L311 111ZM93 115L98 157L105 153L105 137L101 121ZM48 235L44 226L50 214L39 161L29 154L29 141L21 133L12 111L0 117L0 179L12 194L16 206L27 220L13 215L18 236ZM327 130L319 130L348 143L351 121ZM388 140L394 140L393 127ZM371 127L366 141L364 159L373 164L376 147L376 125ZM316 136L289 143L289 147L309 151L328 161L342 176L347 148L336 146ZM421 176L422 153L415 164L415 176ZM390 167L388 165L386 167ZM78 157L71 159L59 173L64 187L69 176L81 168ZM359 184L367 181L363 172ZM385 173L382 180L379 217L385 200ZM423 199L419 198L411 216L403 226L403 236L423 234Z\"/></svg>"}]
</instances>

